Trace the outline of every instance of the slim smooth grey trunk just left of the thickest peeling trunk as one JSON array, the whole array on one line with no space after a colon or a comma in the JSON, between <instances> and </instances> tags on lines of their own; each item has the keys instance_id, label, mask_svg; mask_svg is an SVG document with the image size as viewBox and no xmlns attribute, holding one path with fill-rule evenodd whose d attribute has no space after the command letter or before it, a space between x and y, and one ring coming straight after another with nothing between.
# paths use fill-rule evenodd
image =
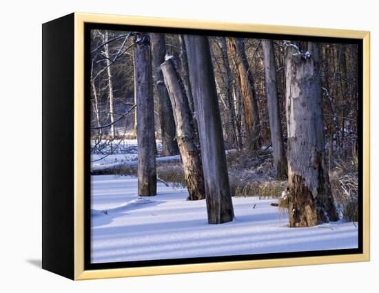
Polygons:
<instances>
[{"instance_id":1,"label":"slim smooth grey trunk just left of the thickest peeling trunk","mask_svg":"<svg viewBox=\"0 0 379 293\"><path fill-rule=\"evenodd\" d=\"M287 158L283 144L282 125L280 119L280 105L278 87L276 83L276 66L274 43L272 40L262 40L263 58L265 59L265 82L267 108L269 111L269 126L272 142L272 155L278 180L287 178Z\"/></svg>"}]
</instances>

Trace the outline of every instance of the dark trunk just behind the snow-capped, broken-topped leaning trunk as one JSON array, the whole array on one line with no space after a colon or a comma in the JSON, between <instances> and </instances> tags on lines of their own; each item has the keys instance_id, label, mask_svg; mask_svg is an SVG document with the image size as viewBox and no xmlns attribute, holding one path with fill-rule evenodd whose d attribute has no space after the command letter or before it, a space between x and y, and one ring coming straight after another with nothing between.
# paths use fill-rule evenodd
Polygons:
<instances>
[{"instance_id":1,"label":"dark trunk just behind the snow-capped, broken-topped leaning trunk","mask_svg":"<svg viewBox=\"0 0 379 293\"><path fill-rule=\"evenodd\" d=\"M168 96L161 63L165 61L166 43L165 34L152 33L152 67L156 96L158 98L158 114L161 122L162 155L177 155L178 144L175 140L175 121L172 115L172 105Z\"/></svg>"}]
</instances>

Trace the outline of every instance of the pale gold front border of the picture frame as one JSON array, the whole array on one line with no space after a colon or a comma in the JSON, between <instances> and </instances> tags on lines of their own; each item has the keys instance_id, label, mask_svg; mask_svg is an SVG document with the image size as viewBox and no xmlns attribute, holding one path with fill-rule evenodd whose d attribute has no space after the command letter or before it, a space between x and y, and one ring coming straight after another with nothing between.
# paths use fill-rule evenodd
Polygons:
<instances>
[{"instance_id":1,"label":"pale gold front border of the picture frame","mask_svg":"<svg viewBox=\"0 0 379 293\"><path fill-rule=\"evenodd\" d=\"M221 270L245 270L253 268L273 268L294 265L316 265L323 263L347 263L369 261L370 259L370 34L367 31L336 30L325 28L302 28L280 25L256 25L250 23L225 23L215 21L193 21L183 19L163 19L154 17L128 17L121 15L88 14L75 12L74 19L74 275L72 279L101 279L125 276L147 276L158 274L179 274L189 272L209 272ZM181 265L157 265L136 268L109 268L85 270L85 225L84 225L84 188L85 188L85 23L112 25L141 25L158 28L179 28L195 30L218 30L228 32L255 32L263 34L290 34L300 36L322 36L347 39L360 39L363 43L363 193L362 210L363 253L338 254L316 257L291 257L280 259L258 259L248 261L225 261L218 263L196 263Z\"/></svg>"}]
</instances>

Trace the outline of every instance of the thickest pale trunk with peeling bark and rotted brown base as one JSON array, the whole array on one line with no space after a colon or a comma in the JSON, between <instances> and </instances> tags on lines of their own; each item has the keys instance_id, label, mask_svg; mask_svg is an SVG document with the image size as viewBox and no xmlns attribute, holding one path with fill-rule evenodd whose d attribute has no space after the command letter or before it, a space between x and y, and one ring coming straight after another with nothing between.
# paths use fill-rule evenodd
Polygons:
<instances>
[{"instance_id":1,"label":"thickest pale trunk with peeling bark and rotted brown base","mask_svg":"<svg viewBox=\"0 0 379 293\"><path fill-rule=\"evenodd\" d=\"M289 226L338 220L325 158L317 43L287 43Z\"/></svg>"}]
</instances>

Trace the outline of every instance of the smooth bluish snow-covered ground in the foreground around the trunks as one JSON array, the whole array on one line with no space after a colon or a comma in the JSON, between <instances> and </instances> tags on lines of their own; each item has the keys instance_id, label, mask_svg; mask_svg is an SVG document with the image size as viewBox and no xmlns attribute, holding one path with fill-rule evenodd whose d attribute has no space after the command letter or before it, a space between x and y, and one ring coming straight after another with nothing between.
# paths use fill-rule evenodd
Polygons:
<instances>
[{"instance_id":1,"label":"smooth bluish snow-covered ground in the foreground around the trunks","mask_svg":"<svg viewBox=\"0 0 379 293\"><path fill-rule=\"evenodd\" d=\"M353 223L288 228L273 199L234 197L234 221L207 224L205 200L158 183L158 195L138 197L136 177L93 175L92 262L177 259L358 247Z\"/></svg>"}]
</instances>

